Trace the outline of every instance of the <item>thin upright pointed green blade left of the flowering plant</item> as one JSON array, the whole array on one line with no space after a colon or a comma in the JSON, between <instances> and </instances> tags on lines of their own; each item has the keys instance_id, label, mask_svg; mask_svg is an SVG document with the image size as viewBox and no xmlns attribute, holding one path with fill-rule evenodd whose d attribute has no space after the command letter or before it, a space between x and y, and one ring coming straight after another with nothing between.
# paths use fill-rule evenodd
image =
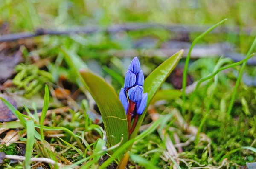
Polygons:
<instances>
[{"instance_id":1,"label":"thin upright pointed green blade left of the flowering plant","mask_svg":"<svg viewBox=\"0 0 256 169\"><path fill-rule=\"evenodd\" d=\"M43 110L42 110L42 114L41 114L41 119L40 119L40 134L41 134L41 140L44 140L44 132L43 132L43 126L44 126L44 118L46 117L46 113L48 110L48 106L49 106L49 89L48 86L45 85L44 88L45 94L44 94L44 106L43 106Z\"/></svg>"}]
</instances>

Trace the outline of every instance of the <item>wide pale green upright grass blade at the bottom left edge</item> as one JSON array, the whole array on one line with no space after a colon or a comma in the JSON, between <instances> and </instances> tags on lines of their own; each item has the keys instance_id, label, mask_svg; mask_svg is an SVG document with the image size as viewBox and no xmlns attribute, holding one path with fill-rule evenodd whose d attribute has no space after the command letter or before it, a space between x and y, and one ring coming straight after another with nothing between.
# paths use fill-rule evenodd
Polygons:
<instances>
[{"instance_id":1,"label":"wide pale green upright grass blade at the bottom left edge","mask_svg":"<svg viewBox=\"0 0 256 169\"><path fill-rule=\"evenodd\" d=\"M32 157L32 150L35 142L35 126L34 121L30 120L26 122L27 125L27 143L26 143L26 158L25 168L30 169L30 159Z\"/></svg>"}]
</instances>

